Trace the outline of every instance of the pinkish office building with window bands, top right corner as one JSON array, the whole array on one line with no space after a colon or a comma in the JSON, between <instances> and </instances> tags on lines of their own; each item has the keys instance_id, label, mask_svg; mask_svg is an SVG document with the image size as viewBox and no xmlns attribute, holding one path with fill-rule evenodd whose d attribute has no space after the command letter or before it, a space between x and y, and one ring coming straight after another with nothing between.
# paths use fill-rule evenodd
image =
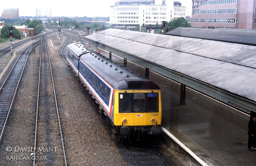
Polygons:
<instances>
[{"instance_id":1,"label":"pinkish office building with window bands, top right corner","mask_svg":"<svg viewBox=\"0 0 256 166\"><path fill-rule=\"evenodd\" d=\"M256 29L256 0L193 0L194 28Z\"/></svg>"}]
</instances>

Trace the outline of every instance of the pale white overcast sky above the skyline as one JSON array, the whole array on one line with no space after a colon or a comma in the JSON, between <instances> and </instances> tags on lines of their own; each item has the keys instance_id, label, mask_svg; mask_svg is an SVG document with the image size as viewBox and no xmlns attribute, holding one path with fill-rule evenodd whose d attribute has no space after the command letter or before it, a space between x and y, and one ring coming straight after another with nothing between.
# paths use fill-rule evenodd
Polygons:
<instances>
[{"instance_id":1,"label":"pale white overcast sky above the skyline","mask_svg":"<svg viewBox=\"0 0 256 166\"><path fill-rule=\"evenodd\" d=\"M53 17L108 17L109 7L115 5L118 0L76 0L65 1L60 0L44 0L44 1L25 1L12 0L3 1L0 5L1 14L3 9L18 8L20 16L36 16L36 9L52 9ZM168 4L169 0L166 0ZM181 2L182 6L186 6L186 16L191 16L192 1L176 0ZM74 3L72 3L74 2Z\"/></svg>"}]
</instances>

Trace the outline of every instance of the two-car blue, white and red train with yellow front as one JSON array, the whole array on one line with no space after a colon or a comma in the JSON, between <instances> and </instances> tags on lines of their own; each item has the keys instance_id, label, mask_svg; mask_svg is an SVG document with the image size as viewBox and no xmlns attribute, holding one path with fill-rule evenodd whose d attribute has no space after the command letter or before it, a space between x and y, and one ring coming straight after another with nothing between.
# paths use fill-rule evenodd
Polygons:
<instances>
[{"instance_id":1,"label":"two-car blue, white and red train with yellow front","mask_svg":"<svg viewBox=\"0 0 256 166\"><path fill-rule=\"evenodd\" d=\"M160 133L161 90L155 83L81 43L69 44L66 58L121 137Z\"/></svg>"}]
</instances>

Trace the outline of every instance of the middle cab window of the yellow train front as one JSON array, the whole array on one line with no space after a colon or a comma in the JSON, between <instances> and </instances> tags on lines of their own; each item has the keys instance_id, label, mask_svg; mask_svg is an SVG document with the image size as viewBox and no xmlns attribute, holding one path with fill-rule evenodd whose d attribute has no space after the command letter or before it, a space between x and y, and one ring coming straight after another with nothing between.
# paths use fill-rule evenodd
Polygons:
<instances>
[{"instance_id":1,"label":"middle cab window of the yellow train front","mask_svg":"<svg viewBox=\"0 0 256 166\"><path fill-rule=\"evenodd\" d=\"M133 94L133 112L145 112L145 94L134 93Z\"/></svg>"}]
</instances>

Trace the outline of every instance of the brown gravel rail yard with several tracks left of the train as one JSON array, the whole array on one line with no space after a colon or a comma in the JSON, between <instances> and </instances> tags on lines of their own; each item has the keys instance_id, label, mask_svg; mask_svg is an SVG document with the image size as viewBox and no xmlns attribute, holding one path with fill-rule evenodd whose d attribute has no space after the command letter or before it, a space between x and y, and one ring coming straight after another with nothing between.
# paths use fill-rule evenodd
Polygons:
<instances>
[{"instance_id":1,"label":"brown gravel rail yard with several tracks left of the train","mask_svg":"<svg viewBox=\"0 0 256 166\"><path fill-rule=\"evenodd\" d=\"M0 165L188 166L161 134L124 143L113 138L108 120L66 62L63 46L83 42L84 33L63 29L59 44L58 30L47 28L19 42L12 55L9 44L0 43ZM112 60L123 62L114 55Z\"/></svg>"}]
</instances>

